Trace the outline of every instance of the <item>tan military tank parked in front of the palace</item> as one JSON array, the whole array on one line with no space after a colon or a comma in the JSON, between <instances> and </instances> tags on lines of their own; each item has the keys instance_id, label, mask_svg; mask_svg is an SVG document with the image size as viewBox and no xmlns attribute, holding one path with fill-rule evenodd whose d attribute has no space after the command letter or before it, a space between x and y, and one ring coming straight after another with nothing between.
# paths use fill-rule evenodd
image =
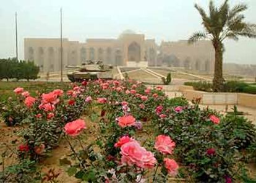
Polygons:
<instances>
[{"instance_id":1,"label":"tan military tank parked in front of the palace","mask_svg":"<svg viewBox=\"0 0 256 183\"><path fill-rule=\"evenodd\" d=\"M82 66L67 66L67 68L77 69L67 73L71 82L81 82L83 80L113 79L113 66L105 65L101 61L86 61Z\"/></svg>"}]
</instances>

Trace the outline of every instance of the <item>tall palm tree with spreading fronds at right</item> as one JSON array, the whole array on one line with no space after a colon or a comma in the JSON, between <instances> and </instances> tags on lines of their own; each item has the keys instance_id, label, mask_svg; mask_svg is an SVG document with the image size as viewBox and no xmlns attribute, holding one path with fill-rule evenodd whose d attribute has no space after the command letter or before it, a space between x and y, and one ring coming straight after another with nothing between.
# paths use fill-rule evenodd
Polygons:
<instances>
[{"instance_id":1,"label":"tall palm tree with spreading fronds at right","mask_svg":"<svg viewBox=\"0 0 256 183\"><path fill-rule=\"evenodd\" d=\"M238 40L239 36L256 38L256 25L244 22L244 15L241 12L247 9L246 4L237 4L229 7L228 0L225 0L220 7L216 7L213 1L209 4L209 15L195 4L195 8L202 17L204 31L195 32L190 38L189 43L198 40L210 39L215 49L215 70L213 77L213 90L223 90L223 41L225 39Z\"/></svg>"}]
</instances>

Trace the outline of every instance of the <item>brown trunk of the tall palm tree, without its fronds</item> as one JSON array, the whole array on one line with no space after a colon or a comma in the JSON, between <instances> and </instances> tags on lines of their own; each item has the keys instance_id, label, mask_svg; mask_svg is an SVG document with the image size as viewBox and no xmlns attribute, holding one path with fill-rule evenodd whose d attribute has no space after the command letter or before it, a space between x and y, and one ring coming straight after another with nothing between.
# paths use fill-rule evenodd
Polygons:
<instances>
[{"instance_id":1,"label":"brown trunk of the tall palm tree, without its fronds","mask_svg":"<svg viewBox=\"0 0 256 183\"><path fill-rule=\"evenodd\" d=\"M223 91L223 45L220 41L213 44L215 48L215 68L213 77L213 91Z\"/></svg>"}]
</instances>

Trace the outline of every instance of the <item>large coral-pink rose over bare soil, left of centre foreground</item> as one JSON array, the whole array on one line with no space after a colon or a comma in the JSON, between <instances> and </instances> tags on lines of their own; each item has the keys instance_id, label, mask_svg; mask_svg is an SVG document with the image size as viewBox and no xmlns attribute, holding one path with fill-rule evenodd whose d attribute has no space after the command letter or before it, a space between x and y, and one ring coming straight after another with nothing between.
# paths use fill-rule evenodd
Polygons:
<instances>
[{"instance_id":1,"label":"large coral-pink rose over bare soil, left of centre foreground","mask_svg":"<svg viewBox=\"0 0 256 183\"><path fill-rule=\"evenodd\" d=\"M64 127L66 134L69 134L70 136L79 135L83 129L86 129L85 121L83 121L83 119L68 122Z\"/></svg>"}]
</instances>

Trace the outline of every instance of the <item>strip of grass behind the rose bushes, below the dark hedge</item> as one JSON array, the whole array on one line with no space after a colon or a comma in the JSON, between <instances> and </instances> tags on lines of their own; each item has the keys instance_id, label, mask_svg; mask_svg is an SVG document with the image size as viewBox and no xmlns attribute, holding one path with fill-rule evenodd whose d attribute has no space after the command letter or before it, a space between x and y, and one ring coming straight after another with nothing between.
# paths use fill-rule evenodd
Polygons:
<instances>
[{"instance_id":1,"label":"strip of grass behind the rose bushes, below the dark hedge","mask_svg":"<svg viewBox=\"0 0 256 183\"><path fill-rule=\"evenodd\" d=\"M0 102L7 100L10 96L15 95L14 89L22 87L29 91L30 95L35 96L36 91L46 93L54 89L69 90L70 83L67 82L0 82Z\"/></svg>"}]
</instances>

